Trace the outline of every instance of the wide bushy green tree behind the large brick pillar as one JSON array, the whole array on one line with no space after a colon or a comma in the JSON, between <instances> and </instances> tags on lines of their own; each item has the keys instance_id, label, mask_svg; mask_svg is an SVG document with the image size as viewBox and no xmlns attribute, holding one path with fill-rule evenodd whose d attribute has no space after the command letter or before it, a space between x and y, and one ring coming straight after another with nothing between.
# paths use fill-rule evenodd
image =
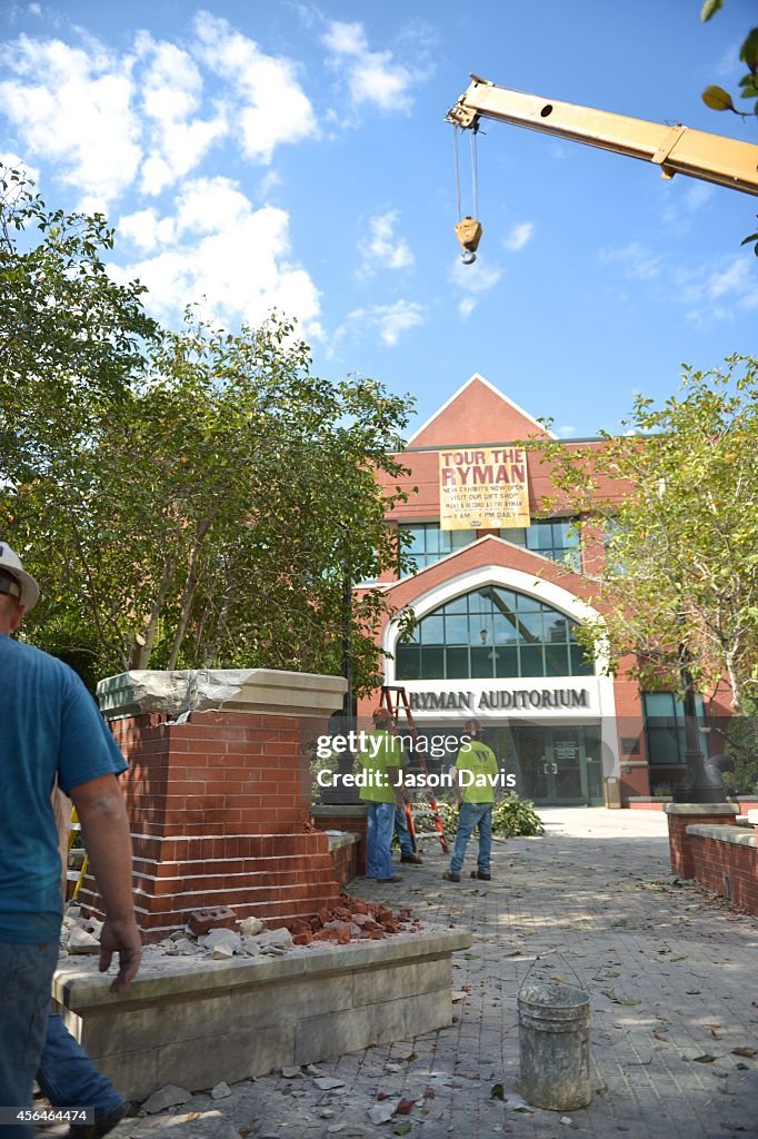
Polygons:
<instances>
[{"instance_id":1,"label":"wide bushy green tree behind the large brick pillar","mask_svg":"<svg viewBox=\"0 0 758 1139\"><path fill-rule=\"evenodd\" d=\"M398 476L409 402L373 380L311 374L272 320L233 335L188 314L116 402L93 393L76 449L50 440L5 493L44 598L38 644L92 646L98 671L269 666L340 671L345 580L398 558L376 470ZM384 612L349 614L357 688L380 664ZM68 646L71 648L71 645Z\"/></svg>"}]
</instances>

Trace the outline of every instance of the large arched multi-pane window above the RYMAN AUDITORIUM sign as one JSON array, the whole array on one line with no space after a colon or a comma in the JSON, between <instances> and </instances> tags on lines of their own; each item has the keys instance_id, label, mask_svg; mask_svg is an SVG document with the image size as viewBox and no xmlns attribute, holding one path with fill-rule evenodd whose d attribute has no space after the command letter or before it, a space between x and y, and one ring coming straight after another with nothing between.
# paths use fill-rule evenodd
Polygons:
<instances>
[{"instance_id":1,"label":"large arched multi-pane window above the RYMAN AUDITORIUM sign","mask_svg":"<svg viewBox=\"0 0 758 1139\"><path fill-rule=\"evenodd\" d=\"M398 680L587 677L576 622L526 593L485 585L419 621L395 650Z\"/></svg>"}]
</instances>

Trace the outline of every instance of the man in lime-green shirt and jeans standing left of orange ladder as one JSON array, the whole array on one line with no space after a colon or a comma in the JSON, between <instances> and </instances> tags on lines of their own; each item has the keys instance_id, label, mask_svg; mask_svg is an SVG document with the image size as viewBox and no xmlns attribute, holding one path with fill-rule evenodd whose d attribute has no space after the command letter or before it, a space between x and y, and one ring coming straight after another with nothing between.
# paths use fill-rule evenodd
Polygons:
<instances>
[{"instance_id":1,"label":"man in lime-green shirt and jeans standing left of orange ladder","mask_svg":"<svg viewBox=\"0 0 758 1139\"><path fill-rule=\"evenodd\" d=\"M361 800L369 809L365 872L377 882L402 882L402 875L393 874L390 846L395 808L403 802L402 788L395 786L402 776L403 752L392 732L392 714L377 708L372 719L373 731L368 735L365 748L357 753L365 775Z\"/></svg>"}]
</instances>

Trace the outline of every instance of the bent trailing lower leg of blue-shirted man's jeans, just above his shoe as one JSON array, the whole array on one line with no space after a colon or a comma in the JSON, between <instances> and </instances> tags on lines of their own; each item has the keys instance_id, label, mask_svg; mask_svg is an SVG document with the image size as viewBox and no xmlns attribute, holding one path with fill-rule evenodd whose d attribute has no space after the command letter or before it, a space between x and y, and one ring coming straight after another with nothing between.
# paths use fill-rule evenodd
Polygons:
<instances>
[{"instance_id":1,"label":"bent trailing lower leg of blue-shirted man's jeans, just above his shoe","mask_svg":"<svg viewBox=\"0 0 758 1139\"><path fill-rule=\"evenodd\" d=\"M36 1082L53 1107L93 1107L96 1121L125 1103L53 1013L48 1016Z\"/></svg>"}]
</instances>

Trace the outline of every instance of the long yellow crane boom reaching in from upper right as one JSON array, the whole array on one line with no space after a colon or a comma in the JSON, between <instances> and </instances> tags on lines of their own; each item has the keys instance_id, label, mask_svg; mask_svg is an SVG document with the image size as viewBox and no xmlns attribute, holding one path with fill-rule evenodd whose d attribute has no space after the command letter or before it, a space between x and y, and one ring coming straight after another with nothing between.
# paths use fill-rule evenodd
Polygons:
<instances>
[{"instance_id":1,"label":"long yellow crane boom reaching in from upper right","mask_svg":"<svg viewBox=\"0 0 758 1139\"><path fill-rule=\"evenodd\" d=\"M758 194L758 146L751 142L558 103L472 79L447 112L447 122L456 126L477 130L480 118L493 118L653 162L664 178L687 174L744 194Z\"/></svg>"}]
</instances>

